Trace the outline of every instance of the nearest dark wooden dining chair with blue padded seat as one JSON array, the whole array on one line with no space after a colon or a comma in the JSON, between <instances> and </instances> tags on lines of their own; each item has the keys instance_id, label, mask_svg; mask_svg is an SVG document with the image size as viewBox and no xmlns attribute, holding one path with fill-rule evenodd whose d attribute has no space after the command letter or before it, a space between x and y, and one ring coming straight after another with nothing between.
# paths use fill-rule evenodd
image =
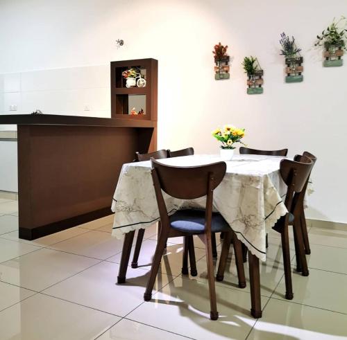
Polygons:
<instances>
[{"instance_id":1,"label":"nearest dark wooden dining chair with blue padded seat","mask_svg":"<svg viewBox=\"0 0 347 340\"><path fill-rule=\"evenodd\" d=\"M212 233L223 231L226 238L232 238L232 229L219 213L212 212L213 191L226 174L226 163L212 163L194 167L176 167L161 164L151 159L152 178L155 189L155 197L158 202L158 210L162 228L155 249L155 255L151 267L149 281L144 301L152 298L153 285L158 274L160 260L164 253L164 246L168 238L177 236L198 235L205 244L206 260L208 266L208 285L210 290L210 319L217 320L217 298L214 285L214 267L212 260ZM205 211L196 209L184 209L176 211L169 216L167 206L162 196L162 191L178 199L197 199L206 196ZM246 279L242 263L241 244L235 247L235 258L238 269L239 286L245 287Z\"/></svg>"}]
</instances>

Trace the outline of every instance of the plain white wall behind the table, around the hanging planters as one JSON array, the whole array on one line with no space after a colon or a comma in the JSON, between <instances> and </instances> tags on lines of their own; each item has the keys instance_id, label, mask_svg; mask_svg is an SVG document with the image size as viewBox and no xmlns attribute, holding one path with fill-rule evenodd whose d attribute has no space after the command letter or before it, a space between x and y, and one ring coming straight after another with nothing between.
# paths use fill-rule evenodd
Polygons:
<instances>
[{"instance_id":1,"label":"plain white wall behind the table, around the hanging planters","mask_svg":"<svg viewBox=\"0 0 347 340\"><path fill-rule=\"evenodd\" d=\"M341 0L2 0L0 73L159 60L159 147L217 152L210 131L245 127L251 147L310 150L319 157L308 217L347 222L347 65L323 68L316 34L347 15ZM304 82L284 83L278 39L303 48ZM115 40L124 39L117 49ZM215 81L212 47L230 46L231 78ZM245 55L264 69L264 94L246 95ZM345 57L347 63L347 57Z\"/></svg>"}]
</instances>

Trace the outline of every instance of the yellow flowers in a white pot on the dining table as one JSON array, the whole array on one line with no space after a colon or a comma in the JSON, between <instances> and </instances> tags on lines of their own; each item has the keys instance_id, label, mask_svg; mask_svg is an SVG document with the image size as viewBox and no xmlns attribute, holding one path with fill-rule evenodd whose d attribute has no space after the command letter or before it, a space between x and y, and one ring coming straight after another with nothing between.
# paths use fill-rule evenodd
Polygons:
<instances>
[{"instance_id":1,"label":"yellow flowers in a white pot on the dining table","mask_svg":"<svg viewBox=\"0 0 347 340\"><path fill-rule=\"evenodd\" d=\"M238 129L232 125L225 125L223 129L215 129L212 131L212 136L221 142L221 159L223 161L230 161L232 159L236 143L245 145L241 141L244 138L244 129Z\"/></svg>"}]
</instances>

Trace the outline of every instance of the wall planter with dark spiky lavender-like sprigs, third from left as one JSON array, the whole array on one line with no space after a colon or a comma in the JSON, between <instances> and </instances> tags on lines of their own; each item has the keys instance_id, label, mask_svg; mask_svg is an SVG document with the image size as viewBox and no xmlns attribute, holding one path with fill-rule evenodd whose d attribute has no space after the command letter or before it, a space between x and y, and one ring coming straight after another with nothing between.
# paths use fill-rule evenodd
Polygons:
<instances>
[{"instance_id":1,"label":"wall planter with dark spiky lavender-like sprigs, third from left","mask_svg":"<svg viewBox=\"0 0 347 340\"><path fill-rule=\"evenodd\" d=\"M281 34L280 45L282 47L280 55L285 56L285 63L287 64L285 82L302 82L303 57L300 55L301 48L296 46L293 36L290 39L285 33Z\"/></svg>"}]
</instances>

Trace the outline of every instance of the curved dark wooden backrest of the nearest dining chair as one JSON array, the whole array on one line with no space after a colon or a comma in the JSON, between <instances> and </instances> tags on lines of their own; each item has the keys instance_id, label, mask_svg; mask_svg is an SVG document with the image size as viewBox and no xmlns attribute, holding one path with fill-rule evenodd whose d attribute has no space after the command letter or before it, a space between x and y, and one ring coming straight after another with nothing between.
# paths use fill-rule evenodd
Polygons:
<instances>
[{"instance_id":1,"label":"curved dark wooden backrest of the nearest dining chair","mask_svg":"<svg viewBox=\"0 0 347 340\"><path fill-rule=\"evenodd\" d=\"M218 162L198 166L164 165L151 159L152 175L155 173L158 184L165 193L179 199L194 199L208 194L221 183L226 174L226 163ZM208 188L209 177L211 186ZM155 184L156 179L153 177Z\"/></svg>"}]
</instances>

